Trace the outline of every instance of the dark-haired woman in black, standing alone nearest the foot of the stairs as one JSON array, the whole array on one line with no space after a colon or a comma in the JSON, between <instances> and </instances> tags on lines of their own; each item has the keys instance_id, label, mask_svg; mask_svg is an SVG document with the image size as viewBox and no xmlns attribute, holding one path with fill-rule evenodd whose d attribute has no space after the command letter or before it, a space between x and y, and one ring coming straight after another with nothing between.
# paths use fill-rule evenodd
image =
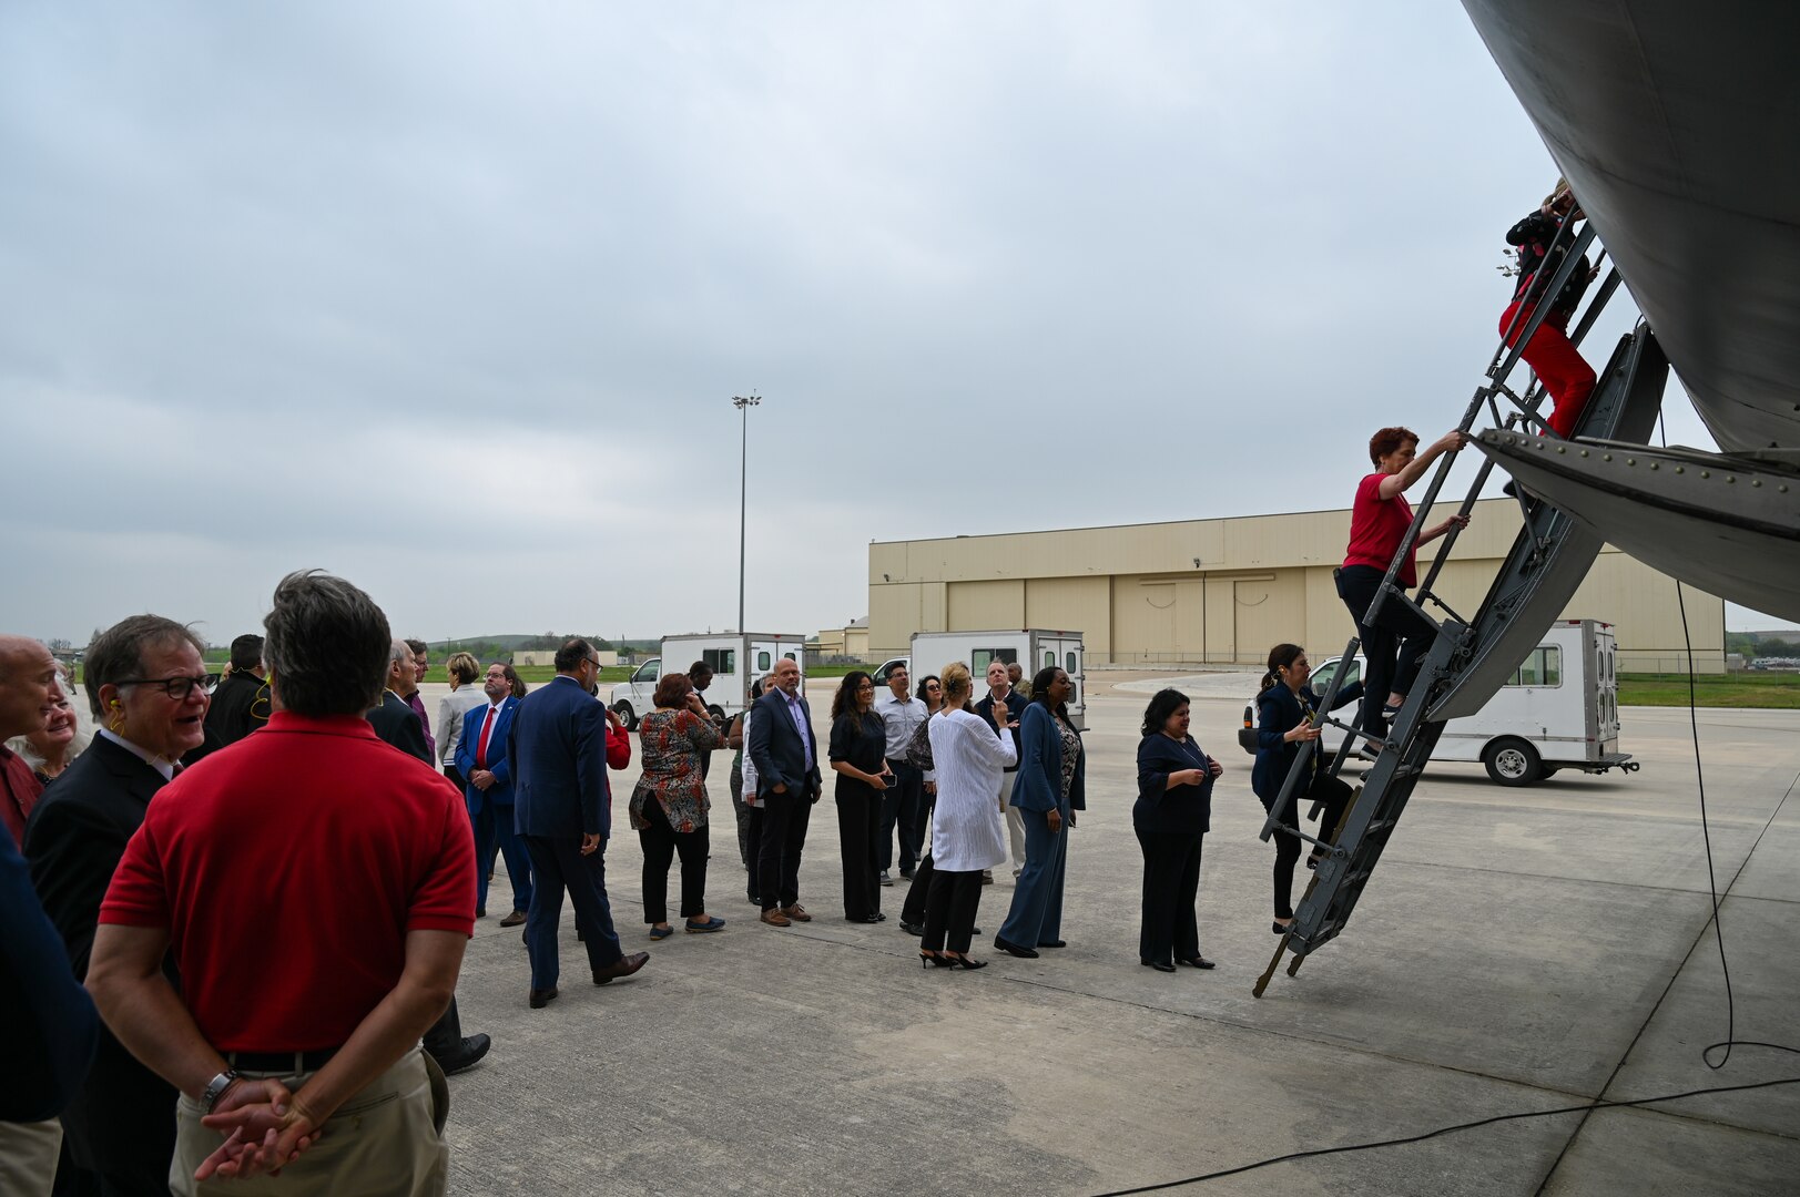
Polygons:
<instances>
[{"instance_id":1,"label":"dark-haired woman in black, standing alone nearest the foot of the stairs","mask_svg":"<svg viewBox=\"0 0 1800 1197\"><path fill-rule=\"evenodd\" d=\"M1201 956L1193 911L1201 889L1201 839L1213 810L1213 778L1224 767L1188 734L1188 697L1159 689L1143 713L1138 805L1130 821L1143 848L1143 929L1138 961L1159 972L1175 963L1211 968Z\"/></svg>"}]
</instances>

